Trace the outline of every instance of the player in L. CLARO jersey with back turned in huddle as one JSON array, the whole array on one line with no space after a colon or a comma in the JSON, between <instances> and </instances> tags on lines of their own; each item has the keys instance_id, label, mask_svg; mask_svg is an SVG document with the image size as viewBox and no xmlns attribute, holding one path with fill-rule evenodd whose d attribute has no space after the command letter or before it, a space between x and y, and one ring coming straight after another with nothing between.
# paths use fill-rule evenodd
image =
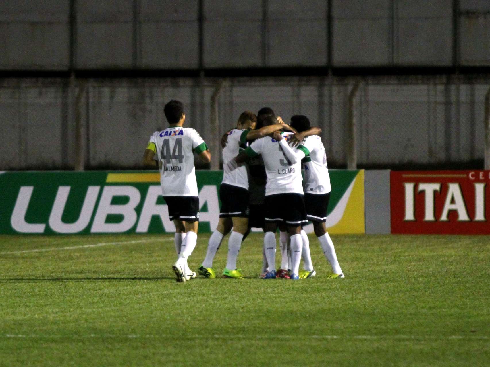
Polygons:
<instances>
[{"instance_id":1,"label":"player in L. CLARO jersey with back turned in huddle","mask_svg":"<svg viewBox=\"0 0 490 367\"><path fill-rule=\"evenodd\" d=\"M264 126L274 123L272 117L264 120ZM294 150L287 144L286 139L292 133L275 132L273 136L255 140L245 152L229 162L236 166L245 162L246 157L255 157L262 154L267 173L265 196L265 235L264 249L269 264L269 272L264 279L276 277L275 271L275 233L279 224L285 224L290 236L292 274L291 279L299 279L299 262L303 247L301 238L301 225L306 224L306 211L303 198L301 177L301 162L292 163L285 156L285 150L290 156L296 157L294 150L305 149L299 145Z\"/></svg>"}]
</instances>

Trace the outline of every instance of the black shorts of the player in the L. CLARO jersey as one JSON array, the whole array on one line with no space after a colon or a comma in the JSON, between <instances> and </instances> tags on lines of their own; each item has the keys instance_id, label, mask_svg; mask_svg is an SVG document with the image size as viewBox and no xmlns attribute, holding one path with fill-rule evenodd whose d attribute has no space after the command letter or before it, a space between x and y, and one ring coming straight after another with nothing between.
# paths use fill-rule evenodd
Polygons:
<instances>
[{"instance_id":1,"label":"black shorts of the player in the L. CLARO jersey","mask_svg":"<svg viewBox=\"0 0 490 367\"><path fill-rule=\"evenodd\" d=\"M268 195L265 199L266 223L302 226L308 223L303 195L297 193Z\"/></svg>"}]
</instances>

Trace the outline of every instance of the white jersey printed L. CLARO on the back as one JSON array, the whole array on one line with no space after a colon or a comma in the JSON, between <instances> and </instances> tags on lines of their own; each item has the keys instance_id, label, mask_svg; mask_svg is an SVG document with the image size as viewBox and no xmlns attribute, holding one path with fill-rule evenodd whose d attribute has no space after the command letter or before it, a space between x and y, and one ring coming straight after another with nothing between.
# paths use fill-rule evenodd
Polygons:
<instances>
[{"instance_id":1,"label":"white jersey printed L. CLARO on the back","mask_svg":"<svg viewBox=\"0 0 490 367\"><path fill-rule=\"evenodd\" d=\"M282 133L287 141L292 133ZM302 146L298 147L302 149ZM298 148L293 148L297 151ZM255 140L246 149L249 156L262 154L267 173L266 196L284 193L303 194L301 161L290 164L277 140L264 137Z\"/></svg>"}]
</instances>

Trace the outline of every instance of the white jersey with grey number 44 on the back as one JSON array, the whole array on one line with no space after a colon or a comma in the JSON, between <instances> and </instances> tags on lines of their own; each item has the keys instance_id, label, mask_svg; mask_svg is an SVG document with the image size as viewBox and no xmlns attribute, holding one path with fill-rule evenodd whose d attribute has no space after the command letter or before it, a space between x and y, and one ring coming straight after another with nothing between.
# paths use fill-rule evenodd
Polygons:
<instances>
[{"instance_id":1,"label":"white jersey with grey number 44 on the back","mask_svg":"<svg viewBox=\"0 0 490 367\"><path fill-rule=\"evenodd\" d=\"M208 149L196 130L169 127L150 137L155 144L163 196L198 196L194 152Z\"/></svg>"}]
</instances>

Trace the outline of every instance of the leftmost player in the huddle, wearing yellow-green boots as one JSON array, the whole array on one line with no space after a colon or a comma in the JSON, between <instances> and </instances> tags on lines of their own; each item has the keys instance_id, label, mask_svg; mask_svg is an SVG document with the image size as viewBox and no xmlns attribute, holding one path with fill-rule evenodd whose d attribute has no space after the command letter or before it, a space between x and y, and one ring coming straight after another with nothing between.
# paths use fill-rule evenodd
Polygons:
<instances>
[{"instance_id":1,"label":"leftmost player in the huddle, wearing yellow-green boots","mask_svg":"<svg viewBox=\"0 0 490 367\"><path fill-rule=\"evenodd\" d=\"M209 239L206 257L198 269L198 273L207 278L216 277L213 259L220 248L223 236L230 231L231 227L233 227L233 231L228 240L228 256L223 275L229 278L244 277L242 270L237 269L236 263L244 235L248 229L248 174L245 165L231 170L228 167L228 162L246 148L247 141L265 137L283 128L291 129L288 125L276 121L273 125L254 130L256 123L257 116L250 111L245 111L240 115L237 127L227 133L226 146L222 151L224 172L220 186L220 221Z\"/></svg>"}]
</instances>

